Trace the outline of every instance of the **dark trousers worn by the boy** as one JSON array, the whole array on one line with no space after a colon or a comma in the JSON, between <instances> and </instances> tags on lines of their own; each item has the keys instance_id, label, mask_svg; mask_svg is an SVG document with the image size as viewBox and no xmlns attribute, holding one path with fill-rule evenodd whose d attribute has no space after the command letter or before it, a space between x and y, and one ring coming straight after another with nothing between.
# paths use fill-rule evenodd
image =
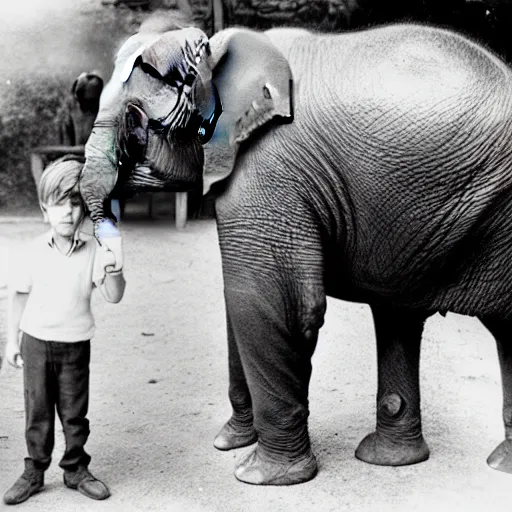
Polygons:
<instances>
[{"instance_id":1,"label":"dark trousers worn by the boy","mask_svg":"<svg viewBox=\"0 0 512 512\"><path fill-rule=\"evenodd\" d=\"M47 469L55 442L55 411L66 440L60 467L88 466L84 446L89 437L90 341L42 341L23 333L21 341L25 391L25 438L36 467Z\"/></svg>"}]
</instances>

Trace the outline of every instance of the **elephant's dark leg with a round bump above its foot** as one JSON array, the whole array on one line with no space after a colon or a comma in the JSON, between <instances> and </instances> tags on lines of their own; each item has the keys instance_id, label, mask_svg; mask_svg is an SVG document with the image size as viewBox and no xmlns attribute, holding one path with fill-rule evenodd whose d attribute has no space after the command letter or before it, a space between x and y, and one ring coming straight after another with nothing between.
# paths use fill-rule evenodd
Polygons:
<instances>
[{"instance_id":1,"label":"elephant's dark leg with a round bump above its foot","mask_svg":"<svg viewBox=\"0 0 512 512\"><path fill-rule=\"evenodd\" d=\"M356 457L370 464L403 466L427 460L421 431L419 358L426 313L372 306L377 337L377 428Z\"/></svg>"}]
</instances>

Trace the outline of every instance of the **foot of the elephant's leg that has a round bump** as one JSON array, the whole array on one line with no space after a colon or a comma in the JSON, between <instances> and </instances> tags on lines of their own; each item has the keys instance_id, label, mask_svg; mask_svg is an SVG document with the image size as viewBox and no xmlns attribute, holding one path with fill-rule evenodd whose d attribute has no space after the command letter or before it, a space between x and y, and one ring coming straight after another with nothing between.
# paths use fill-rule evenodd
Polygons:
<instances>
[{"instance_id":1,"label":"foot of the elephant's leg that has a round bump","mask_svg":"<svg viewBox=\"0 0 512 512\"><path fill-rule=\"evenodd\" d=\"M356 458L379 466L407 466L428 459L430 450L420 435L417 441L396 442L373 432L367 435L356 450Z\"/></svg>"}]
</instances>

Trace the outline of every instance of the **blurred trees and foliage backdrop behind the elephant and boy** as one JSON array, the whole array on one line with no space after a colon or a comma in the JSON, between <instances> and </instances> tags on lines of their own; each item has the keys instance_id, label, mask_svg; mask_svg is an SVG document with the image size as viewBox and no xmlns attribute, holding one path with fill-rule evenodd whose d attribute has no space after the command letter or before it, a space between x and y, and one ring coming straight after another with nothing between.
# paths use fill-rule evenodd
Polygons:
<instances>
[{"instance_id":1,"label":"blurred trees and foliage backdrop behind the elephant and boy","mask_svg":"<svg viewBox=\"0 0 512 512\"><path fill-rule=\"evenodd\" d=\"M302 26L341 32L394 21L450 27L512 62L512 0L2 0L0 213L36 207L30 154L58 144L58 111L84 71L108 80L142 24L177 18L220 28Z\"/></svg>"}]
</instances>

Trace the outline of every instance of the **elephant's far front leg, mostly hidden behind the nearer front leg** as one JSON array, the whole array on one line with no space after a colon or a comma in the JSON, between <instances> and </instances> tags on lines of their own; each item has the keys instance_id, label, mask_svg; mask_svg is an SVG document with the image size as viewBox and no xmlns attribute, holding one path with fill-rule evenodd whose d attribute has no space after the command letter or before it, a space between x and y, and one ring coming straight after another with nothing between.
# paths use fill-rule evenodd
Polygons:
<instances>
[{"instance_id":1,"label":"elephant's far front leg, mostly hidden behind the nearer front leg","mask_svg":"<svg viewBox=\"0 0 512 512\"><path fill-rule=\"evenodd\" d=\"M227 314L229 400L233 414L215 437L213 446L218 450L232 450L255 443L258 440L253 425L252 401L247 387L240 353L233 327Z\"/></svg>"}]
</instances>

